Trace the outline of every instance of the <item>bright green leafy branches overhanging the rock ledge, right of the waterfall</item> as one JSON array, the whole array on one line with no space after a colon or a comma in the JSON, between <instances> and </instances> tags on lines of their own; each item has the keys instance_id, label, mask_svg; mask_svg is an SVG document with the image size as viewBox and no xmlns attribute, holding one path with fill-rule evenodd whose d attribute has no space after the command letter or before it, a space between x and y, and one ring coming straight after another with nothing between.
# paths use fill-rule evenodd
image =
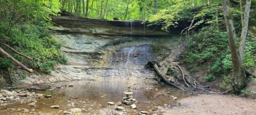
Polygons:
<instances>
[{"instance_id":1,"label":"bright green leafy branches overhanging the rock ledge, right of the waterfall","mask_svg":"<svg viewBox=\"0 0 256 115\"><path fill-rule=\"evenodd\" d=\"M179 0L173 2L166 9L150 15L149 21L152 24L162 25L162 29L168 31L170 27L176 27L180 23L186 23L194 19L196 21L189 28L194 29L201 24L219 23L219 20L222 19L220 18L221 12L221 5L218 1L213 1L211 6L206 6L206 3L202 1Z\"/></svg>"}]
</instances>

